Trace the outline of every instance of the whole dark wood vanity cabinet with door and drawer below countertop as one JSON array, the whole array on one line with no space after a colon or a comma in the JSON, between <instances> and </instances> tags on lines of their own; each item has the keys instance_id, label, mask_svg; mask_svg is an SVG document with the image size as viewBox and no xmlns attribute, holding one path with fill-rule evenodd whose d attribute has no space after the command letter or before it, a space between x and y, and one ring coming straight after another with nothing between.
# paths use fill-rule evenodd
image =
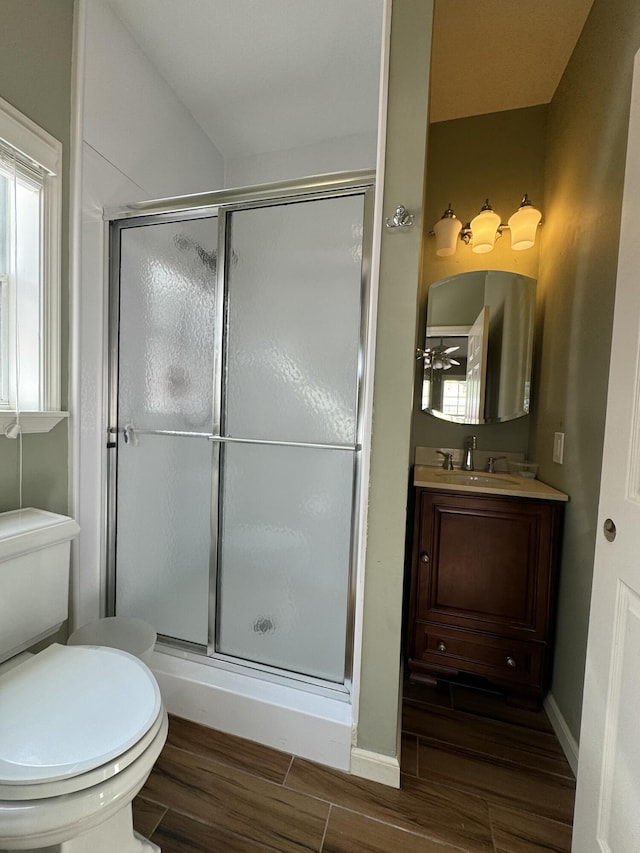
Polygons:
<instances>
[{"instance_id":1,"label":"whole dark wood vanity cabinet with door and drawer below countertop","mask_svg":"<svg viewBox=\"0 0 640 853\"><path fill-rule=\"evenodd\" d=\"M411 680L471 673L542 699L562 510L557 500L416 490Z\"/></svg>"}]
</instances>

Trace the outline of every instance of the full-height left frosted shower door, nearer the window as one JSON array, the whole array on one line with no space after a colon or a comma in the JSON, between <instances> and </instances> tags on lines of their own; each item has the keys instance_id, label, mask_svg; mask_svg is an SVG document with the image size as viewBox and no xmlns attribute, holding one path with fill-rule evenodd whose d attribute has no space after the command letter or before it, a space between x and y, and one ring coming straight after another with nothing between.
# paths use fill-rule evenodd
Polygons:
<instances>
[{"instance_id":1,"label":"full-height left frosted shower door, nearer the window","mask_svg":"<svg viewBox=\"0 0 640 853\"><path fill-rule=\"evenodd\" d=\"M113 610L205 646L218 453L210 440L217 240L215 216L124 220L112 236Z\"/></svg>"}]
</instances>

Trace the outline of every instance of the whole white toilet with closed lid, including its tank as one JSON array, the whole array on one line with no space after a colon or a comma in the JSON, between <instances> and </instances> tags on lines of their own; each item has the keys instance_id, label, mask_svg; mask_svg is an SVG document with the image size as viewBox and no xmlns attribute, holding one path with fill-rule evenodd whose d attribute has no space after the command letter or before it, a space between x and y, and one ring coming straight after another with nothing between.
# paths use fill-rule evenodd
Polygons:
<instances>
[{"instance_id":1,"label":"whole white toilet with closed lid, including its tank","mask_svg":"<svg viewBox=\"0 0 640 853\"><path fill-rule=\"evenodd\" d=\"M0 513L0 851L151 853L131 802L167 737L157 682L121 648L26 649L68 615L78 525ZM76 641L79 643L79 641Z\"/></svg>"}]
</instances>

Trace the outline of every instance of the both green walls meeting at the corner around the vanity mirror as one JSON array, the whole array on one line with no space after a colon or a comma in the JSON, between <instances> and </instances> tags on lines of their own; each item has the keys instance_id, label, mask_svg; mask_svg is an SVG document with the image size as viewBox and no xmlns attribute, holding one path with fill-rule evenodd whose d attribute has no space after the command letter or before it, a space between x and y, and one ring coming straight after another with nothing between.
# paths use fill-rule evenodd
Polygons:
<instances>
[{"instance_id":1,"label":"both green walls meeting at the corner around the vanity mirror","mask_svg":"<svg viewBox=\"0 0 640 853\"><path fill-rule=\"evenodd\" d=\"M497 210L505 211L503 217L508 216L516 192L528 192L543 211L538 253L509 256L503 245L479 261L460 250L454 259L438 259L432 240L425 240L420 335L428 286L445 275L481 268L490 259L492 267L538 278L532 415L473 431L481 447L528 446L530 456L540 463L540 478L570 496L551 691L576 740L597 534L631 74L638 49L640 7L635 0L595 0L548 107L443 122L432 125L429 136L426 230L449 202L466 219L486 195ZM416 392L418 388L417 381ZM566 435L563 465L552 462L556 431ZM417 405L414 409L414 446L460 446L467 432L468 428L429 418Z\"/></svg>"}]
</instances>

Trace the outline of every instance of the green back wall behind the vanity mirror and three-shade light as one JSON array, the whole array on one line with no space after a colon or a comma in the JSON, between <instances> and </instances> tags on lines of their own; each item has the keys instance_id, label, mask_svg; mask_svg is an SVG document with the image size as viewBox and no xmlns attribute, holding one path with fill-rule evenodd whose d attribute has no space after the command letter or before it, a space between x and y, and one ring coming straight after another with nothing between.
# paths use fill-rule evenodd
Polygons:
<instances>
[{"instance_id":1,"label":"green back wall behind the vanity mirror and three-shade light","mask_svg":"<svg viewBox=\"0 0 640 853\"><path fill-rule=\"evenodd\" d=\"M454 255L440 258L435 253L435 239L428 232L449 203L463 225L476 215L487 197L503 222L519 206L524 193L544 213L546 130L546 105L430 125L418 346L424 344L427 297L434 282L457 273L484 269L538 277L540 240L532 249L514 252L506 232L493 252L486 255L474 254L470 246L460 242ZM421 383L422 364L416 362L414 448L461 448L465 436L472 432L478 436L478 447L484 450L527 452L530 417L473 428L450 424L420 410ZM532 406L535 404L534 388Z\"/></svg>"}]
</instances>

